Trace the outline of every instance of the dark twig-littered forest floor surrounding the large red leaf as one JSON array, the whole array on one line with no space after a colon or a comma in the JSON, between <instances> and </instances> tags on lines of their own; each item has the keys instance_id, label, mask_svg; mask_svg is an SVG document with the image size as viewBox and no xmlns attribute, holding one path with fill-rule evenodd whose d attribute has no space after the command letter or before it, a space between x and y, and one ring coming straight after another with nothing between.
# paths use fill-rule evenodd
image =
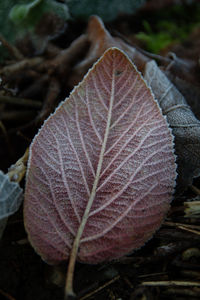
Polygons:
<instances>
[{"instance_id":1,"label":"dark twig-littered forest floor surrounding the large red leaf","mask_svg":"<svg viewBox=\"0 0 200 300\"><path fill-rule=\"evenodd\" d=\"M200 15L199 4L181 8L148 7L106 23L105 27L114 38L142 49L144 57L156 55L152 57L160 60L162 67L163 58L169 57L169 53L195 64L195 73L188 69L184 78L187 81L188 75L188 82L191 79L194 93L186 96L193 97L193 101L200 96L198 12ZM39 55L24 39L19 47L23 53L20 62L24 65L15 57L2 63L0 169L5 173L24 154L43 121L93 63L91 43L99 43L102 49L107 47L101 44L105 35L93 36L91 41L87 28L86 22L69 22L65 31ZM25 100L19 105L20 99ZM198 101L194 101L192 108L200 117ZM20 185L23 188L25 180ZM175 194L165 222L140 250L110 263L77 263L74 289L78 299L199 299L200 212L187 214L186 209L187 203L194 200L198 203L200 200L199 178L185 191ZM9 218L0 244L0 299L63 299L66 269L65 263L48 266L35 253L24 230L23 208Z\"/></svg>"}]
</instances>

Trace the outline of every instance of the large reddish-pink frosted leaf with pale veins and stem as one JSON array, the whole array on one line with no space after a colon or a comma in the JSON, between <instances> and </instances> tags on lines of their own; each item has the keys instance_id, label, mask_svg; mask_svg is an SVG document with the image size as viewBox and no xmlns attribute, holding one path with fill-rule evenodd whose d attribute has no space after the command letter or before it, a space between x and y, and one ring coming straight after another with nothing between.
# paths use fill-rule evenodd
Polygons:
<instances>
[{"instance_id":1,"label":"large reddish-pink frosted leaf with pale veins and stem","mask_svg":"<svg viewBox=\"0 0 200 300\"><path fill-rule=\"evenodd\" d=\"M175 170L173 137L150 89L125 54L109 49L32 142L24 205L31 244L49 263L70 256L68 278L76 258L130 253L160 227Z\"/></svg>"}]
</instances>

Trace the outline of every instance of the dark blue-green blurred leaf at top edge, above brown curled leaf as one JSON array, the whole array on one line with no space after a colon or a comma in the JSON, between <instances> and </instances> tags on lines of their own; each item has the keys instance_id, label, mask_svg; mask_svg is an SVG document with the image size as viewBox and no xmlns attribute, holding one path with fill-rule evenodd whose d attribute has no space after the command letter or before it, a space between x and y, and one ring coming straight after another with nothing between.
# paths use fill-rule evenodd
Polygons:
<instances>
[{"instance_id":1,"label":"dark blue-green blurred leaf at top edge, above brown curled leaf","mask_svg":"<svg viewBox=\"0 0 200 300\"><path fill-rule=\"evenodd\" d=\"M104 21L112 21L120 14L134 13L145 0L67 0L70 13L74 18L87 20L91 15L98 15Z\"/></svg>"}]
</instances>

